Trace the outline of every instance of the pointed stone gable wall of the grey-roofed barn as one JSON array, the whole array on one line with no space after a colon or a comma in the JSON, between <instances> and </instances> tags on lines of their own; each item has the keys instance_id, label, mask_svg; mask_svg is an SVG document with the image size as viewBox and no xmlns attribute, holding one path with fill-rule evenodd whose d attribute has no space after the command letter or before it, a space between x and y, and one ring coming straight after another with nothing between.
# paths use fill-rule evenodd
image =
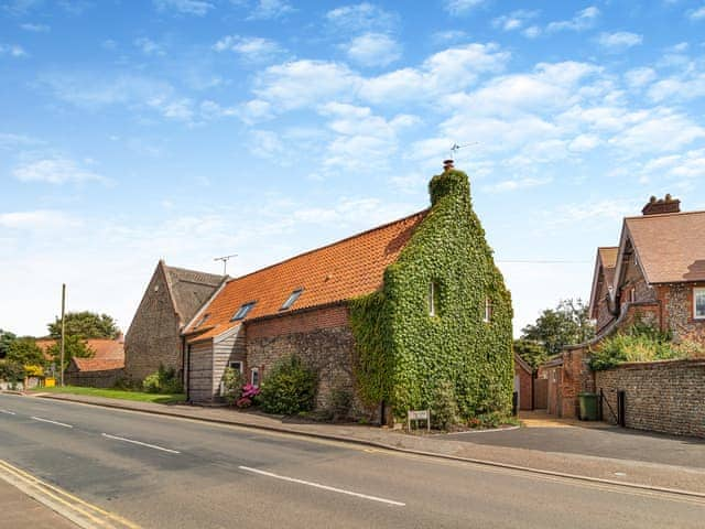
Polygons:
<instances>
[{"instance_id":1,"label":"pointed stone gable wall of the grey-roofed barn","mask_svg":"<svg viewBox=\"0 0 705 529\"><path fill-rule=\"evenodd\" d=\"M141 381L164 367L182 369L181 323L163 268L156 268L124 337L124 375Z\"/></svg>"}]
</instances>

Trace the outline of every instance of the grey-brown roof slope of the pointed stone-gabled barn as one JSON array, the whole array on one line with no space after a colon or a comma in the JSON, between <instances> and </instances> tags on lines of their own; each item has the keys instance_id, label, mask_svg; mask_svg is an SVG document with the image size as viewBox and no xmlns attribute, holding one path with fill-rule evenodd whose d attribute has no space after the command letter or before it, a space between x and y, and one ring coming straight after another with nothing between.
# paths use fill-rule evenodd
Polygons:
<instances>
[{"instance_id":1,"label":"grey-brown roof slope of the pointed stone-gabled barn","mask_svg":"<svg viewBox=\"0 0 705 529\"><path fill-rule=\"evenodd\" d=\"M169 267L163 261L161 263L164 267L164 273L174 300L174 309L181 316L183 324L194 317L198 309L226 279L225 276Z\"/></svg>"}]
</instances>

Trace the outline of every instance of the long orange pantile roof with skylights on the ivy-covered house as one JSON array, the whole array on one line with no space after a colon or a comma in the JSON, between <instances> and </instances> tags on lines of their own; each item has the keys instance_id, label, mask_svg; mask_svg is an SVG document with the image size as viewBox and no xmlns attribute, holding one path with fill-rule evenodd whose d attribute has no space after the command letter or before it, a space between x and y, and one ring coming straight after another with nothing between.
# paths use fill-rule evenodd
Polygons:
<instances>
[{"instance_id":1,"label":"long orange pantile roof with skylights on the ivy-covered house","mask_svg":"<svg viewBox=\"0 0 705 529\"><path fill-rule=\"evenodd\" d=\"M229 280L186 328L202 333L191 342L218 336L241 322L231 322L245 303L256 302L245 321L326 305L375 292L427 210L318 248L278 264ZM288 311L282 305L303 289ZM198 326L205 315L206 320Z\"/></svg>"}]
</instances>

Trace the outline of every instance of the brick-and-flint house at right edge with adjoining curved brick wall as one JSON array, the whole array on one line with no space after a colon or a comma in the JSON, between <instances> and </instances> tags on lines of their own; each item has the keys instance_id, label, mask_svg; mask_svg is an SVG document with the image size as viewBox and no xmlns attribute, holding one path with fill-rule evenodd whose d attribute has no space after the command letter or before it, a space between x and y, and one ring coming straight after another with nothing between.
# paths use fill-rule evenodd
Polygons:
<instances>
[{"instance_id":1,"label":"brick-and-flint house at right edge with adjoining curved brick wall","mask_svg":"<svg viewBox=\"0 0 705 529\"><path fill-rule=\"evenodd\" d=\"M550 413L576 417L578 393L599 389L589 352L637 321L705 345L704 234L705 212L681 212L666 195L623 219L619 246L598 248L589 304L597 336L541 366Z\"/></svg>"}]
</instances>

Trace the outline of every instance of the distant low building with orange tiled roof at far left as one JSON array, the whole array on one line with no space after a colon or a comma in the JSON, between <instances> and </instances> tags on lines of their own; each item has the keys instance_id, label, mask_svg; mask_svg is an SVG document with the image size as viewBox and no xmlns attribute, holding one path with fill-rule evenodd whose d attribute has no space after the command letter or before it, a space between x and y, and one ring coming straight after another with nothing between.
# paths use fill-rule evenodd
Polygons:
<instances>
[{"instance_id":1,"label":"distant low building with orange tiled roof at far left","mask_svg":"<svg viewBox=\"0 0 705 529\"><path fill-rule=\"evenodd\" d=\"M36 341L36 345L46 355L56 342L54 338L40 338ZM86 345L94 352L94 355L90 358L72 358L64 371L65 384L110 388L124 377L124 341L122 335L116 339L86 339Z\"/></svg>"}]
</instances>

